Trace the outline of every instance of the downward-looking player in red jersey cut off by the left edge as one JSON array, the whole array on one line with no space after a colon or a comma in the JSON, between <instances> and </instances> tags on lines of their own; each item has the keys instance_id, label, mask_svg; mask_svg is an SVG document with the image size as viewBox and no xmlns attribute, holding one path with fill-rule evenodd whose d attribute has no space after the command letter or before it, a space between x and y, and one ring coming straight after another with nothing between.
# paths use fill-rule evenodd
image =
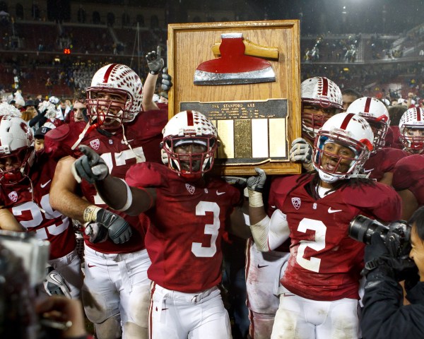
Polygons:
<instances>
[{"instance_id":1,"label":"downward-looking player in red jersey cut off by the left edge","mask_svg":"<svg viewBox=\"0 0 424 339\"><path fill-rule=\"evenodd\" d=\"M49 203L55 167L42 150L35 153L33 130L23 119L1 117L0 228L35 232L48 240L49 264L65 279L66 295L76 299L83 285L76 237L69 218Z\"/></svg>"}]
</instances>

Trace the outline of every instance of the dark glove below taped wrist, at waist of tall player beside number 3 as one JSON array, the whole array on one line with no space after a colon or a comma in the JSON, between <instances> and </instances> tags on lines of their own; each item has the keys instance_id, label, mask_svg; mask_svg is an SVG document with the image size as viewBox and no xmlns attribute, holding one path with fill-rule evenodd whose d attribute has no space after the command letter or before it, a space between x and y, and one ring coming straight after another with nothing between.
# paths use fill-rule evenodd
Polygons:
<instances>
[{"instance_id":1,"label":"dark glove below taped wrist, at waist of tall player beside number 3","mask_svg":"<svg viewBox=\"0 0 424 339\"><path fill-rule=\"evenodd\" d=\"M110 239L115 244L127 242L132 235L129 223L110 210L105 210L105 208L100 208L95 221L100 227L103 226L107 229Z\"/></svg>"}]
</instances>

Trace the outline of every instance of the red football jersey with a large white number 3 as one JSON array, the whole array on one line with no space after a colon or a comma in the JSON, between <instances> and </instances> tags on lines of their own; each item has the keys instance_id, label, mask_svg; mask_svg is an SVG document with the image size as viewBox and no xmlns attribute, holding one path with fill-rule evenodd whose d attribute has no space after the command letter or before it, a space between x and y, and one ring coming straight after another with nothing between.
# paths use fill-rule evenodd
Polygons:
<instances>
[{"instance_id":1,"label":"red football jersey with a large white number 3","mask_svg":"<svg viewBox=\"0 0 424 339\"><path fill-rule=\"evenodd\" d=\"M204 186L186 182L167 167L148 162L131 167L126 182L156 189L155 206L146 212L151 219L148 278L187 293L220 283L221 239L240 192L220 179L208 178Z\"/></svg>"}]
</instances>

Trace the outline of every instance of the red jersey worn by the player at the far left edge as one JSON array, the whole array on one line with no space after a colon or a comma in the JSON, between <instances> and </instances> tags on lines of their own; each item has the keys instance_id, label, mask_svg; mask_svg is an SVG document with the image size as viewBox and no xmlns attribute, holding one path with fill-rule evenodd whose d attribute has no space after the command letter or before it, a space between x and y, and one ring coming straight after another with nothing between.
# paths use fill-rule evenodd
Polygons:
<instances>
[{"instance_id":1,"label":"red jersey worn by the player at the far left edge","mask_svg":"<svg viewBox=\"0 0 424 339\"><path fill-rule=\"evenodd\" d=\"M37 153L29 176L33 187L29 179L24 179L13 186L2 185L0 190L0 204L11 211L20 225L35 232L38 239L50 242L51 259L69 254L76 246L71 220L53 210L49 203L55 168L56 162L45 153Z\"/></svg>"}]
</instances>

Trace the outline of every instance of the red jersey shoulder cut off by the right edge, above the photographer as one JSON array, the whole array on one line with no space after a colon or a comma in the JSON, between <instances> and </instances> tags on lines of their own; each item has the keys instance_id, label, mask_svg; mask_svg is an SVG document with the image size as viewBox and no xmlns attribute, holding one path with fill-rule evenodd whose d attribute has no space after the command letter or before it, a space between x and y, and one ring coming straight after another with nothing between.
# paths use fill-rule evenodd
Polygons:
<instances>
[{"instance_id":1,"label":"red jersey shoulder cut off by the right edge, above the photographer","mask_svg":"<svg viewBox=\"0 0 424 339\"><path fill-rule=\"evenodd\" d=\"M413 193L419 206L424 206L424 155L408 155L394 167L392 185L396 191L408 189Z\"/></svg>"}]
</instances>

